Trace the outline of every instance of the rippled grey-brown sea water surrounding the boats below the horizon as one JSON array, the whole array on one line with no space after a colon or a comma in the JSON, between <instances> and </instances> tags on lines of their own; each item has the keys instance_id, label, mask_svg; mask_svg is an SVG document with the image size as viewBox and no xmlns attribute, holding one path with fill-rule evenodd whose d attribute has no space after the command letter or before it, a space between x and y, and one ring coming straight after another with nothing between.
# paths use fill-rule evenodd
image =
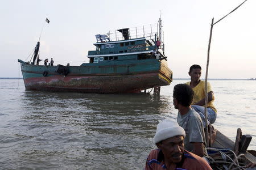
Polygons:
<instances>
[{"instance_id":1,"label":"rippled grey-brown sea water surrounding the boats below the horizon","mask_svg":"<svg viewBox=\"0 0 256 170\"><path fill-rule=\"evenodd\" d=\"M174 80L153 95L25 91L23 80L0 79L0 169L142 169L156 124L176 120ZM214 126L235 139L251 134L256 149L256 81L210 80Z\"/></svg>"}]
</instances>

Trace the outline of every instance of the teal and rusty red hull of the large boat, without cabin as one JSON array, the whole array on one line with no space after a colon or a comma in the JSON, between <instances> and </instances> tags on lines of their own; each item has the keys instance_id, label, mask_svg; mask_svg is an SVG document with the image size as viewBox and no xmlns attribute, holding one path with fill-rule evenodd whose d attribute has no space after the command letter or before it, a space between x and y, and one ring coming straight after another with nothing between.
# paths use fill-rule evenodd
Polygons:
<instances>
[{"instance_id":1,"label":"teal and rusty red hull of the large boat, without cabin","mask_svg":"<svg viewBox=\"0 0 256 170\"><path fill-rule=\"evenodd\" d=\"M149 62L143 67L134 63L125 66L104 66L104 72L102 72L102 66L101 68L91 66L89 70L88 67L73 66L69 68L68 75L57 74L57 66L35 66L26 63L21 63L21 66L26 90L100 94L130 93L155 86L167 86L172 80L171 71L160 62ZM92 73L92 70L97 69L98 72ZM44 71L47 71L47 75Z\"/></svg>"}]
</instances>

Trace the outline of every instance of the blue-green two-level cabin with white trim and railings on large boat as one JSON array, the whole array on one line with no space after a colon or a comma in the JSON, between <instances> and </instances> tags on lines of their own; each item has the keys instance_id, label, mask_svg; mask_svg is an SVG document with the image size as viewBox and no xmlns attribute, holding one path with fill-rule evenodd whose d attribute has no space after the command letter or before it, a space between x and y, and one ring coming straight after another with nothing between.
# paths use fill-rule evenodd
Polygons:
<instances>
[{"instance_id":1,"label":"blue-green two-level cabin with white trim and railings on large boat","mask_svg":"<svg viewBox=\"0 0 256 170\"><path fill-rule=\"evenodd\" d=\"M96 50L88 52L90 63L126 60L166 59L164 56L162 23L109 31L96 35Z\"/></svg>"}]
</instances>

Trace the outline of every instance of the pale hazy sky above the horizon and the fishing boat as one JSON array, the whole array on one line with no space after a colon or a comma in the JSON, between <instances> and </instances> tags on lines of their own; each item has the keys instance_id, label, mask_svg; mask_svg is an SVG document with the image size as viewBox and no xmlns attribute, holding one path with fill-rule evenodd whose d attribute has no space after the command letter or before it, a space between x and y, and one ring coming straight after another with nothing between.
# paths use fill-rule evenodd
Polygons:
<instances>
[{"instance_id":1,"label":"pale hazy sky above the horizon and the fishing boat","mask_svg":"<svg viewBox=\"0 0 256 170\"><path fill-rule=\"evenodd\" d=\"M2 0L0 77L19 76L17 60L30 60L43 25L40 58L81 65L89 62L88 50L96 49L94 35L155 24L161 12L165 54L174 78L189 78L193 64L201 65L204 78L212 18L217 21L243 1ZM213 26L208 78L256 78L255 7L255 0L247 0Z\"/></svg>"}]
</instances>

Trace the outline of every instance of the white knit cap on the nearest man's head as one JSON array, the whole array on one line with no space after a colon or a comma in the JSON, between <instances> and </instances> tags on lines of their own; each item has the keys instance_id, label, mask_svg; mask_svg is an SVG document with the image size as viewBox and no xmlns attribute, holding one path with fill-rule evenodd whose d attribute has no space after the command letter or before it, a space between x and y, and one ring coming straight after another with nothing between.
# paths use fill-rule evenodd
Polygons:
<instances>
[{"instance_id":1,"label":"white knit cap on the nearest man's head","mask_svg":"<svg viewBox=\"0 0 256 170\"><path fill-rule=\"evenodd\" d=\"M182 135L185 138L185 130L180 127L176 121L163 120L156 127L156 133L153 138L153 143L156 144L165 139Z\"/></svg>"}]
</instances>

